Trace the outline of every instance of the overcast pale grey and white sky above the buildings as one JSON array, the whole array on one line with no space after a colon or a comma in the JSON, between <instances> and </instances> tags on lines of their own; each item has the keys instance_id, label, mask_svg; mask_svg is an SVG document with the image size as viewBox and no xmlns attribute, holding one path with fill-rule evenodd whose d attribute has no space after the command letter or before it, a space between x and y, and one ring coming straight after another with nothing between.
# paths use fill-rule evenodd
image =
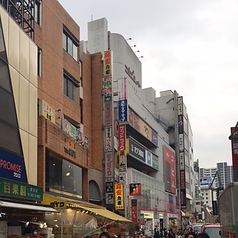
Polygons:
<instances>
[{"instance_id":1,"label":"overcast pale grey and white sky above the buildings","mask_svg":"<svg viewBox=\"0 0 238 238\"><path fill-rule=\"evenodd\" d=\"M87 23L131 37L142 56L142 87L176 90L193 131L200 167L231 165L230 127L238 115L237 0L59 0L87 40Z\"/></svg>"}]
</instances>

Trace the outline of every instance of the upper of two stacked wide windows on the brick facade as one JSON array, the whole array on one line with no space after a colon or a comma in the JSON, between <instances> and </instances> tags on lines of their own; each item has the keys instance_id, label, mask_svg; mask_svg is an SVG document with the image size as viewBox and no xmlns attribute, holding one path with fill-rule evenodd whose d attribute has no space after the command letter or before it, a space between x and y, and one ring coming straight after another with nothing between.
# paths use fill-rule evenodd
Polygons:
<instances>
[{"instance_id":1,"label":"upper of two stacked wide windows on the brick facade","mask_svg":"<svg viewBox=\"0 0 238 238\"><path fill-rule=\"evenodd\" d=\"M78 40L64 28L63 30L63 49L75 60L78 60Z\"/></svg>"}]
</instances>

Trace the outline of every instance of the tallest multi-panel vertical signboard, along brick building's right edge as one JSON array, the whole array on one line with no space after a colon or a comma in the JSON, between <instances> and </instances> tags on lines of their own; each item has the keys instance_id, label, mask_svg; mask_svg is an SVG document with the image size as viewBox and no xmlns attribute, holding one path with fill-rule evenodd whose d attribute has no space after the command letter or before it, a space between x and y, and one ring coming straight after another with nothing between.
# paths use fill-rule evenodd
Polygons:
<instances>
[{"instance_id":1,"label":"tallest multi-panel vertical signboard, along brick building's right edge","mask_svg":"<svg viewBox=\"0 0 238 238\"><path fill-rule=\"evenodd\" d=\"M103 55L103 108L104 108L104 158L105 158L105 203L114 204L114 133L112 113L112 52Z\"/></svg>"}]
</instances>

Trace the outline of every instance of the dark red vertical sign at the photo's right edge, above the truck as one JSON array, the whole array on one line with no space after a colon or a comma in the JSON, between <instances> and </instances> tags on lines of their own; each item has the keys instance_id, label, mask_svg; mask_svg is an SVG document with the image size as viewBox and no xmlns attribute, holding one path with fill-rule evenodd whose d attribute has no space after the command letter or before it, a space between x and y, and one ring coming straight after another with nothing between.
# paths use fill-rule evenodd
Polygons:
<instances>
[{"instance_id":1,"label":"dark red vertical sign at the photo's right edge, above the truck","mask_svg":"<svg viewBox=\"0 0 238 238\"><path fill-rule=\"evenodd\" d=\"M231 134L233 136L238 134L238 128L232 127ZM232 153L232 167L234 182L238 182L238 140L231 140L231 153Z\"/></svg>"}]
</instances>

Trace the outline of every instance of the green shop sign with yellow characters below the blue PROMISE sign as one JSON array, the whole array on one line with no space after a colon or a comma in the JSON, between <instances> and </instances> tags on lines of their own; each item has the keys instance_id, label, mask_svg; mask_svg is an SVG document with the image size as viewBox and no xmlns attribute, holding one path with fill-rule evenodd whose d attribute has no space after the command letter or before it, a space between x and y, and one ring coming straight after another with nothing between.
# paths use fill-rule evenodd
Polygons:
<instances>
[{"instance_id":1,"label":"green shop sign with yellow characters below the blue PROMISE sign","mask_svg":"<svg viewBox=\"0 0 238 238\"><path fill-rule=\"evenodd\" d=\"M34 201L43 200L42 188L2 178L0 178L0 195Z\"/></svg>"}]
</instances>

